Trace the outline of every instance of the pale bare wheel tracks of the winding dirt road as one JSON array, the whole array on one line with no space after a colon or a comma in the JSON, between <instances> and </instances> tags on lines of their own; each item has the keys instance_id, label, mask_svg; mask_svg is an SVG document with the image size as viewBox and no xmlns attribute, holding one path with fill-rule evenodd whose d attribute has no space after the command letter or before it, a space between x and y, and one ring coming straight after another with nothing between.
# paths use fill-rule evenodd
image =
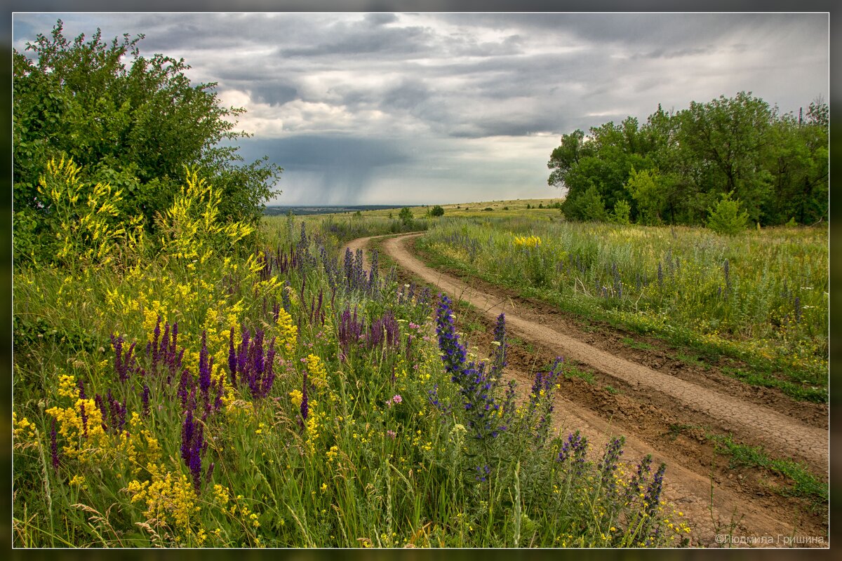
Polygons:
<instances>
[{"instance_id":1,"label":"pale bare wheel tracks of the winding dirt road","mask_svg":"<svg viewBox=\"0 0 842 561\"><path fill-rule=\"evenodd\" d=\"M424 265L411 249L413 238L421 235L387 238L382 241L381 249L408 273L454 299L472 304L480 310L486 325L493 325L497 316L505 313L509 333L529 341L545 357L562 356L568 363L573 360L587 365L605 380L626 390L622 400L613 400L621 410L615 415L615 409L600 407L600 400L605 399L593 395L595 390L589 384L571 385L568 395L557 398L556 426L562 431L582 430L594 444L593 453L599 453L611 437L623 434L626 436L624 456L628 461L649 453L655 462L667 463L664 495L687 516L693 528L693 545L717 547L722 540L717 536L730 533L735 537L749 537L749 542L750 537L772 536L775 537L772 542L755 545L785 547L784 537L812 538L826 532L821 521L804 521L804 516L794 512L786 502L775 500L756 487L746 489L739 480L732 481L732 474L726 475L721 466L717 469L716 462L699 460L698 451L685 453L675 442L658 435L658 431L641 430L647 421L657 424L659 415L682 421L681 426L715 427L746 442L762 444L770 454L795 458L817 473L827 473L829 431L826 427L806 424L716 387L659 372L570 336L560 331L564 326L546 312L530 309L527 303L512 298L502 289L473 281L469 284ZM365 250L371 239L354 240L346 247L351 251ZM367 257L365 266L369 267ZM508 368L509 376L519 379L520 386L528 387L531 365L524 361L519 364L517 360L509 362L514 363ZM639 414L641 411L643 415ZM739 474L738 479L742 478ZM826 546L827 539L818 545Z\"/></svg>"}]
</instances>

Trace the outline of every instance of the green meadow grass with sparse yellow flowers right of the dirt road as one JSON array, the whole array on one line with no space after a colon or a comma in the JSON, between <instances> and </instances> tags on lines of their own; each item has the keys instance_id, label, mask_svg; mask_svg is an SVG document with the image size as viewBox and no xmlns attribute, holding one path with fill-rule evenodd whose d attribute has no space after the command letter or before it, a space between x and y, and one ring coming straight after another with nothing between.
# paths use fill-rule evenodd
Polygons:
<instances>
[{"instance_id":1,"label":"green meadow grass with sparse yellow flowers right of the dirt road","mask_svg":"<svg viewBox=\"0 0 842 561\"><path fill-rule=\"evenodd\" d=\"M828 233L450 218L418 241L562 309L749 363L765 385L827 400Z\"/></svg>"}]
</instances>

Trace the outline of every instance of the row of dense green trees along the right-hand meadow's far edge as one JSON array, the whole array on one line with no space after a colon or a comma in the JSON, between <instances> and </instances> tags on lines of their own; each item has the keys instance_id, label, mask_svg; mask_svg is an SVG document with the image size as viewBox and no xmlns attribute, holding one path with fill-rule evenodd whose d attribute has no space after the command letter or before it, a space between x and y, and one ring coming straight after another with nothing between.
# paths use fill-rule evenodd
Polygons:
<instances>
[{"instance_id":1,"label":"row of dense green trees along the right-hand meadow's far edge","mask_svg":"<svg viewBox=\"0 0 842 561\"><path fill-rule=\"evenodd\" d=\"M782 114L761 98L658 109L562 135L548 183L567 189L568 220L705 224L723 200L759 225L828 219L829 107Z\"/></svg>"}]
</instances>

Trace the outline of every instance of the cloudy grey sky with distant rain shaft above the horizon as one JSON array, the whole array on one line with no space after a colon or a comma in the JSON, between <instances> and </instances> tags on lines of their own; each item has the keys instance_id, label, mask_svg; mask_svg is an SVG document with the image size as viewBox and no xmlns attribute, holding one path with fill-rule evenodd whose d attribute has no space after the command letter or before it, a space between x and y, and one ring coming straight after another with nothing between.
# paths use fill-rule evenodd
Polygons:
<instances>
[{"instance_id":1,"label":"cloudy grey sky with distant rain shaft above the horizon","mask_svg":"<svg viewBox=\"0 0 842 561\"><path fill-rule=\"evenodd\" d=\"M269 204L553 198L561 135L660 103L752 92L829 100L828 13L15 13L13 46L144 34L242 107L248 161L285 169Z\"/></svg>"}]
</instances>

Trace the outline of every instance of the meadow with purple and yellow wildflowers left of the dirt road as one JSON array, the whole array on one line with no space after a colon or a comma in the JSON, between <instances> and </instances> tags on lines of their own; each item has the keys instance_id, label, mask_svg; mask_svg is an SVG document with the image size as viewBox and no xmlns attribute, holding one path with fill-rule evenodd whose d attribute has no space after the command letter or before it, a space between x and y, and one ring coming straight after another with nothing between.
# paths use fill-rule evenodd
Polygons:
<instances>
[{"instance_id":1,"label":"meadow with purple and yellow wildflowers left of the dirt road","mask_svg":"<svg viewBox=\"0 0 842 561\"><path fill-rule=\"evenodd\" d=\"M172 237L119 244L104 225L95 254L71 237L60 263L15 270L15 547L637 547L690 532L661 499L664 466L621 461L621 437L589 453L586 435L549 431L559 369L501 384L503 320L493 362L472 363L446 299L336 255L423 224L279 217L249 234L183 196Z\"/></svg>"}]
</instances>

